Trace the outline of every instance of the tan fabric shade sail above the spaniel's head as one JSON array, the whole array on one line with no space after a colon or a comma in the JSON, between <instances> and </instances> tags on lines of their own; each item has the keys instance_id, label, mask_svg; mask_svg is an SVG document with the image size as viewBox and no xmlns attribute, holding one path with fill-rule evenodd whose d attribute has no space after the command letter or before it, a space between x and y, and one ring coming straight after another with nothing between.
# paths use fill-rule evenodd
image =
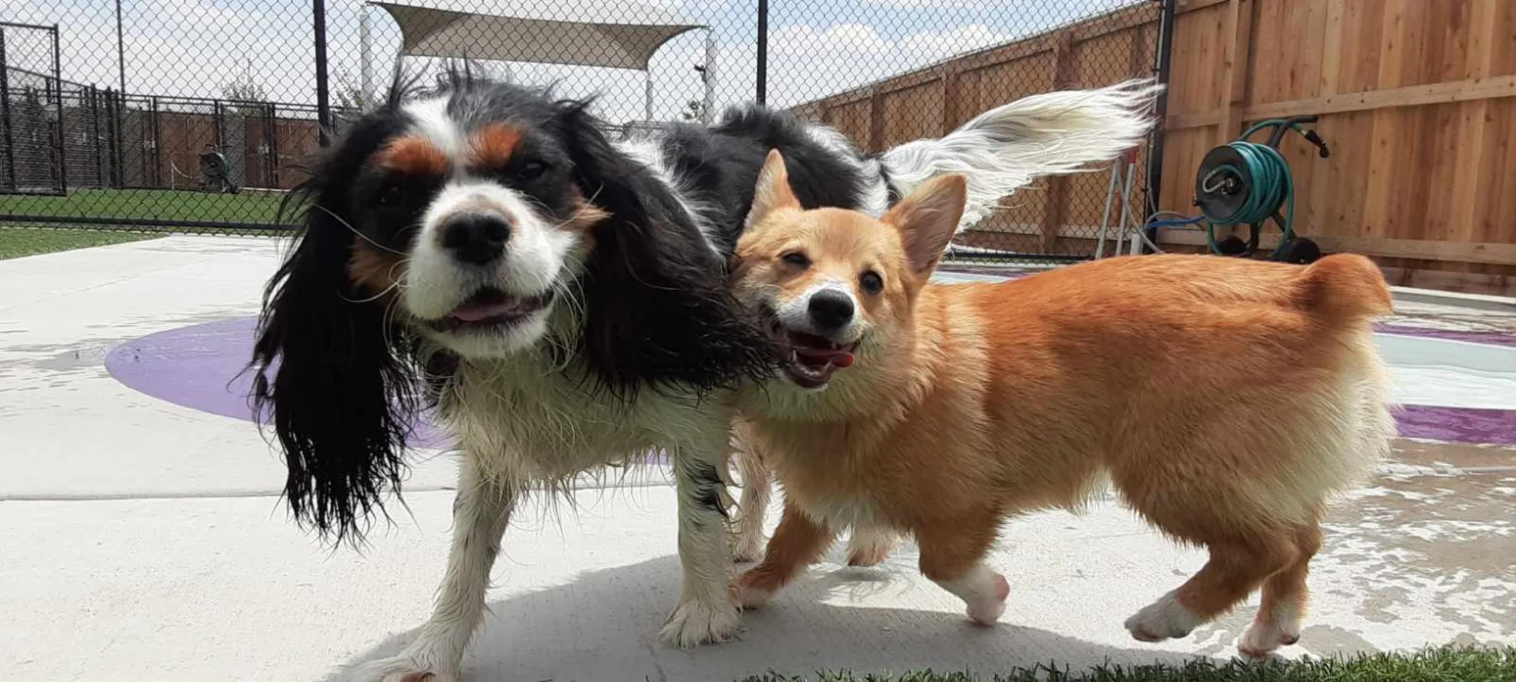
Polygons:
<instances>
[{"instance_id":1,"label":"tan fabric shade sail above the spaniel's head","mask_svg":"<svg viewBox=\"0 0 1516 682\"><path fill-rule=\"evenodd\" d=\"M467 2L467 0L462 0ZM400 24L405 56L635 68L670 38L703 29L615 0L488 0L458 6L371 3Z\"/></svg>"}]
</instances>

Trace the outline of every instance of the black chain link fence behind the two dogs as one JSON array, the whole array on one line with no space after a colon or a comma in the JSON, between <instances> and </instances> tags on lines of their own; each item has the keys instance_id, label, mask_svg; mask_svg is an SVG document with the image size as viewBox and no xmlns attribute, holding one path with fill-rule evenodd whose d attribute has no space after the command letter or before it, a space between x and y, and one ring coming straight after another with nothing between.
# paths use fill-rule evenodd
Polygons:
<instances>
[{"instance_id":1,"label":"black chain link fence behind the two dogs","mask_svg":"<svg viewBox=\"0 0 1516 682\"><path fill-rule=\"evenodd\" d=\"M323 120L340 129L397 68L424 77L458 58L594 95L615 135L706 121L761 92L878 152L1017 97L1149 76L1161 5L764 2L760 50L755 3L17 0L0 26L0 221L287 227L279 200L320 149ZM1116 168L1128 161L1143 162ZM1087 258L1108 197L1143 191L1140 177L1111 177L1098 168L1007 197L955 255Z\"/></svg>"}]
</instances>

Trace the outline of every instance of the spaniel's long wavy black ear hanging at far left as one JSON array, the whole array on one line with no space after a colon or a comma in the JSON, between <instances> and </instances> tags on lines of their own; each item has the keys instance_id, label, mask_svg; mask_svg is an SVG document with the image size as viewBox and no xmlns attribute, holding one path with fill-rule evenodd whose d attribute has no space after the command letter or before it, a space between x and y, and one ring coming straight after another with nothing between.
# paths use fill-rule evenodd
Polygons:
<instances>
[{"instance_id":1,"label":"spaniel's long wavy black ear hanging at far left","mask_svg":"<svg viewBox=\"0 0 1516 682\"><path fill-rule=\"evenodd\" d=\"M303 229L264 293L252 399L283 447L296 518L358 541L387 488L399 493L417 383L403 332L347 276L358 236L335 161L300 189Z\"/></svg>"}]
</instances>

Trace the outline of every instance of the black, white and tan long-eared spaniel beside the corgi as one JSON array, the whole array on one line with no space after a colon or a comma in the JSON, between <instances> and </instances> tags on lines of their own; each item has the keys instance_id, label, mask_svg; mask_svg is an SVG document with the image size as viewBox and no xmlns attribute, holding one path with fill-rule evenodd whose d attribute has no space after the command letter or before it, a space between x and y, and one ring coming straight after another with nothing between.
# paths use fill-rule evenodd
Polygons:
<instances>
[{"instance_id":1,"label":"black, white and tan long-eared spaniel beside the corgi","mask_svg":"<svg viewBox=\"0 0 1516 682\"><path fill-rule=\"evenodd\" d=\"M728 289L728 259L767 152L784 153L805 206L875 215L967 170L972 221L1038 174L1132 147L1154 95L1139 82L1031 97L864 156L760 108L612 142L585 102L467 73L396 88L302 188L303 230L268 285L253 361L285 496L323 535L358 540L382 514L418 408L434 405L461 450L437 609L355 679L456 679L512 508L649 453L667 455L679 499L684 593L662 638L734 637L732 389L769 376L775 347Z\"/></svg>"}]
</instances>

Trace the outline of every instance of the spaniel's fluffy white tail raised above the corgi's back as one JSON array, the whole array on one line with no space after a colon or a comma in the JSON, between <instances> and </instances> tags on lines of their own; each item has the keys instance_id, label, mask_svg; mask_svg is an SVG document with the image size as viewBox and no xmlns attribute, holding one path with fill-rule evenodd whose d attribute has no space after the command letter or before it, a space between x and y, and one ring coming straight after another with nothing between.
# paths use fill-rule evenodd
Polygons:
<instances>
[{"instance_id":1,"label":"spaniel's fluffy white tail raised above the corgi's back","mask_svg":"<svg viewBox=\"0 0 1516 682\"><path fill-rule=\"evenodd\" d=\"M1072 173L1135 147L1157 123L1151 105L1160 92L1161 85L1142 79L1031 95L979 114L944 138L894 147L879 161L901 196L932 176L966 173L963 232L1040 176Z\"/></svg>"}]
</instances>

